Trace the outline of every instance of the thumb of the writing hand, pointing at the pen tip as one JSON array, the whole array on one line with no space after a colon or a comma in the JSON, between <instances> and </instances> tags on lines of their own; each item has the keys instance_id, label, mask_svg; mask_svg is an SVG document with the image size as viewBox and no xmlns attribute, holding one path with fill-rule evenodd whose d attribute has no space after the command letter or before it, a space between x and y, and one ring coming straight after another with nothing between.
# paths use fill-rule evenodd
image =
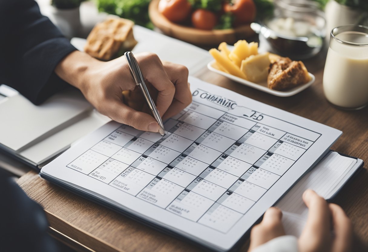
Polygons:
<instances>
[{"instance_id":1,"label":"thumb of the writing hand, pointing at the pen tip","mask_svg":"<svg viewBox=\"0 0 368 252\"><path fill-rule=\"evenodd\" d=\"M138 130L159 132L159 125L151 115L130 108L120 99L107 101L104 108L102 113L116 122L130 125Z\"/></svg>"}]
</instances>

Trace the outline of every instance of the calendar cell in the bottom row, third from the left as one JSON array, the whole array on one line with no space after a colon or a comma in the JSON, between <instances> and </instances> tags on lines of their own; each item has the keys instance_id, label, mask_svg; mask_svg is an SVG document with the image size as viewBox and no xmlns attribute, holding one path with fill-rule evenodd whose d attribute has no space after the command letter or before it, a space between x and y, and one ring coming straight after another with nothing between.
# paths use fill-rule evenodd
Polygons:
<instances>
[{"instance_id":1,"label":"calendar cell in the bottom row, third from the left","mask_svg":"<svg viewBox=\"0 0 368 252\"><path fill-rule=\"evenodd\" d=\"M134 167L127 168L122 174L117 176L109 185L112 185L131 195L137 195L155 176L147 172L135 169Z\"/></svg>"}]
</instances>

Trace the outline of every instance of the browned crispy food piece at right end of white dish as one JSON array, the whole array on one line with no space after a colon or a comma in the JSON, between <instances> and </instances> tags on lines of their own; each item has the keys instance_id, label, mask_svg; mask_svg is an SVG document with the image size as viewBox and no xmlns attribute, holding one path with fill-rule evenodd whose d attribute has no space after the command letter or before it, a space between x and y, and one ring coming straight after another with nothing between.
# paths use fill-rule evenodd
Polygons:
<instances>
[{"instance_id":1,"label":"browned crispy food piece at right end of white dish","mask_svg":"<svg viewBox=\"0 0 368 252\"><path fill-rule=\"evenodd\" d=\"M286 90L305 84L310 80L311 77L303 62L280 57L270 65L267 85L273 90Z\"/></svg>"}]
</instances>

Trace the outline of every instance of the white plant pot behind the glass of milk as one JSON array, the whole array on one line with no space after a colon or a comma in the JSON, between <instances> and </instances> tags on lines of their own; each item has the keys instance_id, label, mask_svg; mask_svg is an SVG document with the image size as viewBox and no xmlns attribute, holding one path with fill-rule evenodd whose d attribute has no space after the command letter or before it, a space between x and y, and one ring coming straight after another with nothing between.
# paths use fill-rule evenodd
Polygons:
<instances>
[{"instance_id":1,"label":"white plant pot behind the glass of milk","mask_svg":"<svg viewBox=\"0 0 368 252\"><path fill-rule=\"evenodd\" d=\"M349 24L358 24L361 21L364 11L358 8L351 8L330 0L326 4L326 38L330 38L331 30L335 27Z\"/></svg>"}]
</instances>

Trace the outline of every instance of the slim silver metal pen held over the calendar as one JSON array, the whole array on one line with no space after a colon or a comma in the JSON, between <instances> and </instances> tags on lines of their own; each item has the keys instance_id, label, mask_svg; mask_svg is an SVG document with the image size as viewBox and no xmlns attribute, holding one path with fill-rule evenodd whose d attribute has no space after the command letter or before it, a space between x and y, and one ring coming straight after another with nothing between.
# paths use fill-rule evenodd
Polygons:
<instances>
[{"instance_id":1,"label":"slim silver metal pen held over the calendar","mask_svg":"<svg viewBox=\"0 0 368 252\"><path fill-rule=\"evenodd\" d=\"M152 113L152 116L156 119L157 123L160 126L159 132L163 136L165 134L165 129L163 127L163 123L161 120L160 113L158 112L155 103L152 100L151 95L149 95L146 84L144 83L144 78L142 76L141 69L139 68L138 62L135 59L132 52L125 52L125 59L127 59L128 66L130 69L130 73L135 81L135 84L139 86L142 91L142 94L147 102L147 106Z\"/></svg>"}]
</instances>

